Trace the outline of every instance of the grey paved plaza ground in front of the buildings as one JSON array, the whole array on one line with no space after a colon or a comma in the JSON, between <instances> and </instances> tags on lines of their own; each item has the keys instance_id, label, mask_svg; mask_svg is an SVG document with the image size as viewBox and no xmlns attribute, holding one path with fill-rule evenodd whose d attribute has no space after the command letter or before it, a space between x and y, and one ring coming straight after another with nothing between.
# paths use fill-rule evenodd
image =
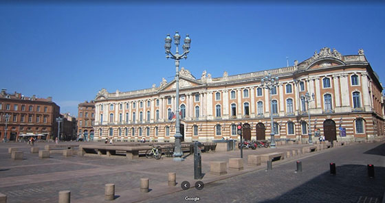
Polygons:
<instances>
[{"instance_id":1,"label":"grey paved plaza ground in front of the buildings","mask_svg":"<svg viewBox=\"0 0 385 203\"><path fill-rule=\"evenodd\" d=\"M36 143L41 149L47 143ZM52 144L52 143L51 143ZM82 143L84 144L84 143ZM87 143L85 143L87 144ZM94 143L91 143L94 144ZM58 192L71 191L71 202L104 201L104 184L115 184L112 202L358 202L361 198L382 201L385 191L385 143L354 143L320 152L274 161L266 166L248 166L250 154L267 154L300 149L305 145L281 145L276 149L243 150L245 169L216 176L209 173L210 161L239 158L240 151L202 153L205 187L194 188L193 156L184 154L181 163L162 156L161 160L139 160L51 154L41 159L30 154L26 143L0 143L0 193L8 202L58 202ZM12 160L8 147L24 152L23 160ZM303 172L294 173L296 160ZM336 163L337 175L329 174L329 163ZM368 178L366 165L375 165L375 178ZM176 172L177 186L168 187L168 172ZM150 192L140 193L140 178L150 179ZM180 183L192 187L182 190Z\"/></svg>"}]
</instances>

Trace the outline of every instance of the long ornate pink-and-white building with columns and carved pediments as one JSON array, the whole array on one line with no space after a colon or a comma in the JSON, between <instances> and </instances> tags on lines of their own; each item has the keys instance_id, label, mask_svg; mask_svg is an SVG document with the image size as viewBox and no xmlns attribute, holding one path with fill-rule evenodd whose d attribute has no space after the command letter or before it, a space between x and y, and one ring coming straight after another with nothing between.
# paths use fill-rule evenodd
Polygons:
<instances>
[{"instance_id":1,"label":"long ornate pink-and-white building with columns and carved pediments","mask_svg":"<svg viewBox=\"0 0 385 203\"><path fill-rule=\"evenodd\" d=\"M261 79L278 76L269 91ZM292 67L197 79L180 71L181 134L184 141L239 139L236 123L243 123L245 139L270 139L274 116L275 139L308 139L316 129L326 139L373 139L384 134L382 85L360 49L342 56L327 47ZM307 109L303 95L314 94ZM152 88L109 93L95 98L95 139L173 141L175 134L175 80ZM310 125L307 113L311 115ZM314 138L313 139L317 139Z\"/></svg>"}]
</instances>

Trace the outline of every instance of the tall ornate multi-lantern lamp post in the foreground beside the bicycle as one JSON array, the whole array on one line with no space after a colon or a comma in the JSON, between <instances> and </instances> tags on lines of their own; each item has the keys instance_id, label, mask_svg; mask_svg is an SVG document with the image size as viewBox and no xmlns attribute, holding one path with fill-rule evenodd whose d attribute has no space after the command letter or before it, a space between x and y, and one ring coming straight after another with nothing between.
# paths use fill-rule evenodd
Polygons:
<instances>
[{"instance_id":1,"label":"tall ornate multi-lantern lamp post in the foreground beside the bicycle","mask_svg":"<svg viewBox=\"0 0 385 203\"><path fill-rule=\"evenodd\" d=\"M179 121L179 60L181 60L182 58L187 58L187 54L190 52L189 49L190 49L190 43L191 43L191 39L188 37L188 34L186 34L186 38L184 38L184 45L182 46L183 47L183 53L182 54L179 54L179 51L178 51L178 46L179 46L179 43L180 43L180 35L178 32L175 32L175 35L174 35L174 44L176 45L176 51L175 51L175 54L173 54L170 49L171 49L171 42L172 42L172 39L170 37L170 34L167 34L166 36L166 39L164 40L165 41L165 45L164 45L164 49L166 50L166 58L172 58L173 60L175 60L175 69L176 69L176 74L175 74L175 82L176 82L176 110L175 110L175 114L176 114L176 118L177 118L177 121L175 123L175 150L174 150L174 160L175 161L182 161L183 158L181 157L183 155L183 152L181 151L181 134L180 134L180 121Z\"/></svg>"}]
</instances>

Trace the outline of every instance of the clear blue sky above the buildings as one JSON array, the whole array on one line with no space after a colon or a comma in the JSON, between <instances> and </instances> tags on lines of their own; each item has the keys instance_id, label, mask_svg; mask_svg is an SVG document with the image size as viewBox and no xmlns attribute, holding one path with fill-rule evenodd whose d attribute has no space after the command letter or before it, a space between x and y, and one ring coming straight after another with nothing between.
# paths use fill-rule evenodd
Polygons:
<instances>
[{"instance_id":1,"label":"clear blue sky above the buildings","mask_svg":"<svg viewBox=\"0 0 385 203\"><path fill-rule=\"evenodd\" d=\"M242 2L242 1L241 1ZM133 91L173 80L164 38L192 39L181 67L200 78L286 67L322 47L365 51L384 82L385 4L0 3L0 88L52 96L61 112L101 88ZM175 51L175 45L172 50Z\"/></svg>"}]
</instances>

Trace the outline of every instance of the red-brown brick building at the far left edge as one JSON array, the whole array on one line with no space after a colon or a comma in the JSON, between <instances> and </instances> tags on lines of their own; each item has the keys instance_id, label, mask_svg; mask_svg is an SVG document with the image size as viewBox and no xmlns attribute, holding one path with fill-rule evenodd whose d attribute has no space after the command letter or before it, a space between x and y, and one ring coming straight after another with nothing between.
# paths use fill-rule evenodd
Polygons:
<instances>
[{"instance_id":1,"label":"red-brown brick building at the far left edge","mask_svg":"<svg viewBox=\"0 0 385 203\"><path fill-rule=\"evenodd\" d=\"M60 115L60 107L52 101L52 97L25 97L21 93L5 91L2 89L0 95L0 140L17 141L29 136L53 139L57 136L56 118ZM8 121L5 119L7 115Z\"/></svg>"}]
</instances>

